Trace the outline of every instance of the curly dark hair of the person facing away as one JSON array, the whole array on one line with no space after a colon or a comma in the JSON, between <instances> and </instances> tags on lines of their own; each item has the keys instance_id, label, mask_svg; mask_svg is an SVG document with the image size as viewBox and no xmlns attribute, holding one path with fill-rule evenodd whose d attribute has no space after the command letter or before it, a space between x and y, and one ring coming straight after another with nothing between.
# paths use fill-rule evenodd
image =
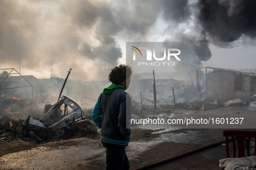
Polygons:
<instances>
[{"instance_id":1,"label":"curly dark hair of the person facing away","mask_svg":"<svg viewBox=\"0 0 256 170\"><path fill-rule=\"evenodd\" d=\"M112 82L114 85L119 85L125 79L130 79L133 71L131 66L120 64L115 66L108 75L108 82Z\"/></svg>"}]
</instances>

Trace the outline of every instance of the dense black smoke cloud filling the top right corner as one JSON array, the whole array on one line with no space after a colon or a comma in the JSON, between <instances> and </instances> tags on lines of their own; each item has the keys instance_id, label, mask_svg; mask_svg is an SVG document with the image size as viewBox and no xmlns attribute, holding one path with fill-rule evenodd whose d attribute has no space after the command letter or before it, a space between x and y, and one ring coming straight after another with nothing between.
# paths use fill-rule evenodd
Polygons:
<instances>
[{"instance_id":1,"label":"dense black smoke cloud filling the top right corner","mask_svg":"<svg viewBox=\"0 0 256 170\"><path fill-rule=\"evenodd\" d=\"M207 41L231 42L256 37L255 0L200 0L198 20Z\"/></svg>"}]
</instances>

